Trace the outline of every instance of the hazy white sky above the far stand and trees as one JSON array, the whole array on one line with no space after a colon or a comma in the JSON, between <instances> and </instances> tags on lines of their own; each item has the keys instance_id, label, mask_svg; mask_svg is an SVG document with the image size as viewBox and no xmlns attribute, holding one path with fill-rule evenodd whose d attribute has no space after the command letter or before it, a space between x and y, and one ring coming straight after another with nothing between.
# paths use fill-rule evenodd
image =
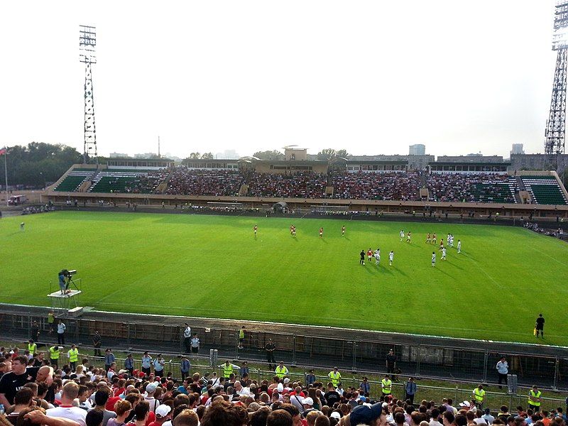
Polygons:
<instances>
[{"instance_id":1,"label":"hazy white sky above the far stand and trees","mask_svg":"<svg viewBox=\"0 0 568 426\"><path fill-rule=\"evenodd\" d=\"M99 154L543 151L552 0L5 1L0 146L82 152L79 25L97 26Z\"/></svg>"}]
</instances>

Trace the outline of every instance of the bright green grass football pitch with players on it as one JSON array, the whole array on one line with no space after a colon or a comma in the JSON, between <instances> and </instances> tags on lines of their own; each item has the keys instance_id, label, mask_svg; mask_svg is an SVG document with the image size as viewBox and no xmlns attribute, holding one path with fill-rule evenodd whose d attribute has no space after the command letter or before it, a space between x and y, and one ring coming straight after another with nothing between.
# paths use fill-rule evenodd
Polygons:
<instances>
[{"instance_id":1,"label":"bright green grass football pitch with players on it","mask_svg":"<svg viewBox=\"0 0 568 426\"><path fill-rule=\"evenodd\" d=\"M441 261L427 232L454 234L462 253ZM369 247L381 248L380 266L359 265ZM542 312L544 342L568 344L568 245L520 228L57 212L1 219L0 253L2 302L48 305L49 281L76 268L82 305L99 310L515 342L535 342Z\"/></svg>"}]
</instances>

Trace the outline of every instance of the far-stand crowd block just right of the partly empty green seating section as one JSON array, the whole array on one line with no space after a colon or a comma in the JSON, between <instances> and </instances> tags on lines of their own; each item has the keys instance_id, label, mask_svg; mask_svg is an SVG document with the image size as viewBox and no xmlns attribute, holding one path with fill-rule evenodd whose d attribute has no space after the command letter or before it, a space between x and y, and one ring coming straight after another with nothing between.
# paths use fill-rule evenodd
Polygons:
<instances>
[{"instance_id":1,"label":"far-stand crowd block just right of the partly empty green seating section","mask_svg":"<svg viewBox=\"0 0 568 426\"><path fill-rule=\"evenodd\" d=\"M234 196L243 182L243 176L236 171L180 167L173 172L166 194Z\"/></svg>"}]
</instances>

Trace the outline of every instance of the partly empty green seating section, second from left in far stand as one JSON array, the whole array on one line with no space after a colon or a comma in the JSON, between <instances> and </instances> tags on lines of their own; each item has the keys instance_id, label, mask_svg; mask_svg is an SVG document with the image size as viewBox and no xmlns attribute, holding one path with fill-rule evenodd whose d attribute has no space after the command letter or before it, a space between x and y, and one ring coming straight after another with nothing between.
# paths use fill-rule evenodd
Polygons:
<instances>
[{"instance_id":1,"label":"partly empty green seating section, second from left in far stand","mask_svg":"<svg viewBox=\"0 0 568 426\"><path fill-rule=\"evenodd\" d=\"M107 170L94 176L88 192L152 194L165 178L167 170Z\"/></svg>"}]
</instances>

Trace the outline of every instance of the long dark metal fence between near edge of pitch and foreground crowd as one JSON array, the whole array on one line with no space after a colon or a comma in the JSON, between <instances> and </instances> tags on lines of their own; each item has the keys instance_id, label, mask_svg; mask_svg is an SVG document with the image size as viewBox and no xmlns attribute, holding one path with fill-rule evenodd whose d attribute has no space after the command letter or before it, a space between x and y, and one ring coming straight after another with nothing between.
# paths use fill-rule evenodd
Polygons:
<instances>
[{"instance_id":1,"label":"long dark metal fence between near edge of pitch and foreground crowd","mask_svg":"<svg viewBox=\"0 0 568 426\"><path fill-rule=\"evenodd\" d=\"M49 334L47 318L33 315L4 313L0 316L0 329L14 335L30 336L31 324L38 321L39 341L53 342L56 334ZM204 322L204 320L202 321ZM102 336L102 346L131 348L139 352L149 350L153 354L170 352L180 354L185 350L182 327L179 324L155 322L121 322L109 317L100 320L67 318L67 344L92 344L95 330ZM396 344L391 341L343 339L315 335L275 332L267 325L261 331L247 331L244 349L239 349L239 324L235 327L209 328L192 324L192 332L200 338L200 354L209 349L219 350L219 363L225 359L246 359L266 363L264 347L268 339L276 346L275 361L292 366L339 366L342 371L386 372L386 354L394 349L398 357L398 372L404 376L442 378L471 383L496 383L496 364L501 356L508 359L509 373L518 376L519 386L537 384L542 388L567 389L568 358L539 354L511 354L501 351L477 350L452 346L424 344Z\"/></svg>"}]
</instances>

